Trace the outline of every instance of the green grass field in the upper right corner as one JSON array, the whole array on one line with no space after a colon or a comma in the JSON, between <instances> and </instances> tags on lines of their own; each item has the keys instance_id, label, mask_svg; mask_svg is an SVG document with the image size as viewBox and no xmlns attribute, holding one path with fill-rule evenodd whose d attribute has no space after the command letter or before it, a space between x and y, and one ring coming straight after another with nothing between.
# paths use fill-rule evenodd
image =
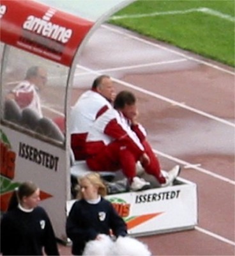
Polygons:
<instances>
[{"instance_id":1,"label":"green grass field in the upper right corner","mask_svg":"<svg viewBox=\"0 0 235 256\"><path fill-rule=\"evenodd\" d=\"M128 17L192 8L208 8L233 20L206 12ZM127 17L110 22L234 67L234 12L234 0L139 0L114 15Z\"/></svg>"}]
</instances>

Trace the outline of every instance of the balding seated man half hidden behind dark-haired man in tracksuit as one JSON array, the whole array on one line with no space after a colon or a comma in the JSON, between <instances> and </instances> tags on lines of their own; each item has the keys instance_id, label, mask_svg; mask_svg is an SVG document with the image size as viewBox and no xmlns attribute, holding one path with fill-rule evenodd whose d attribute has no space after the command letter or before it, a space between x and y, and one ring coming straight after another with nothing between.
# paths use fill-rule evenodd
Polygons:
<instances>
[{"instance_id":1,"label":"balding seated man half hidden behind dark-haired man in tracksuit","mask_svg":"<svg viewBox=\"0 0 235 256\"><path fill-rule=\"evenodd\" d=\"M108 108L116 93L109 76L96 77L91 90L82 93L71 111L71 148L76 160L86 159L86 137L95 119Z\"/></svg>"}]
</instances>

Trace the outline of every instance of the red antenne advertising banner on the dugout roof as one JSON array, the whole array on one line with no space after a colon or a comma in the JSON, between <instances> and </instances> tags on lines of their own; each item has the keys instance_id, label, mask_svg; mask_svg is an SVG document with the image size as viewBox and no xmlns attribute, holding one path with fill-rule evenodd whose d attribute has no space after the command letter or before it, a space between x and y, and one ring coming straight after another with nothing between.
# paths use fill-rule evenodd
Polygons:
<instances>
[{"instance_id":1,"label":"red antenne advertising banner on the dugout roof","mask_svg":"<svg viewBox=\"0 0 235 256\"><path fill-rule=\"evenodd\" d=\"M70 67L93 22L32 0L1 0L1 42Z\"/></svg>"}]
</instances>

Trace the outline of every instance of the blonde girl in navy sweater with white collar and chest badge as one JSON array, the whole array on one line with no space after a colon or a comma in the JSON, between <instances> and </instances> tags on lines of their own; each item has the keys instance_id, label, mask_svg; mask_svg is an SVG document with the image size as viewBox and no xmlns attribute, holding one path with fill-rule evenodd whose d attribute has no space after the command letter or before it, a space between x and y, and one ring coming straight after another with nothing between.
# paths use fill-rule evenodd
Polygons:
<instances>
[{"instance_id":1,"label":"blonde girl in navy sweater with white collar and chest badge","mask_svg":"<svg viewBox=\"0 0 235 256\"><path fill-rule=\"evenodd\" d=\"M127 235L126 223L103 196L107 190L100 175L91 172L79 179L80 199L66 221L66 234L72 240L73 255L82 255L89 241L102 241L103 235Z\"/></svg>"}]
</instances>

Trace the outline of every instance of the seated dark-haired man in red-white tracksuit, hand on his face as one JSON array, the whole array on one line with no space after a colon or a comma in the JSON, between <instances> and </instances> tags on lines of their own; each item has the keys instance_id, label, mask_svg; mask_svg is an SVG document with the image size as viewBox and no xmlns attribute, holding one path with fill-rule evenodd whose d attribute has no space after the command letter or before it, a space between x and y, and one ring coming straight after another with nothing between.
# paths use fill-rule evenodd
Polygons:
<instances>
[{"instance_id":1,"label":"seated dark-haired man in red-white tracksuit, hand on his face","mask_svg":"<svg viewBox=\"0 0 235 256\"><path fill-rule=\"evenodd\" d=\"M87 165L94 171L117 171L121 168L130 189L149 188L149 182L136 175L136 163L140 161L145 172L153 175L161 186L169 186L178 177L180 167L175 166L163 175L157 157L153 153L146 131L137 124L136 98L133 93L122 91L114 100L114 108L107 109L91 126L86 140L89 157Z\"/></svg>"}]
</instances>

